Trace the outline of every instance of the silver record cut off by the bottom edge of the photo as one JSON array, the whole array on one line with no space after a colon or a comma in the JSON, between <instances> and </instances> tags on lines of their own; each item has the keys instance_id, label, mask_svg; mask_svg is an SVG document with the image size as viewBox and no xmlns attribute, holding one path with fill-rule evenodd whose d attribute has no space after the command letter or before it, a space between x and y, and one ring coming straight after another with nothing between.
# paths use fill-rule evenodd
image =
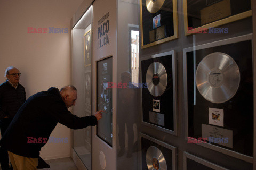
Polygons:
<instances>
[{"instance_id":1,"label":"silver record cut off by the bottom edge of the photo","mask_svg":"<svg viewBox=\"0 0 256 170\"><path fill-rule=\"evenodd\" d=\"M149 170L167 170L167 164L163 153L155 146L148 148L146 162Z\"/></svg>"}]
</instances>

